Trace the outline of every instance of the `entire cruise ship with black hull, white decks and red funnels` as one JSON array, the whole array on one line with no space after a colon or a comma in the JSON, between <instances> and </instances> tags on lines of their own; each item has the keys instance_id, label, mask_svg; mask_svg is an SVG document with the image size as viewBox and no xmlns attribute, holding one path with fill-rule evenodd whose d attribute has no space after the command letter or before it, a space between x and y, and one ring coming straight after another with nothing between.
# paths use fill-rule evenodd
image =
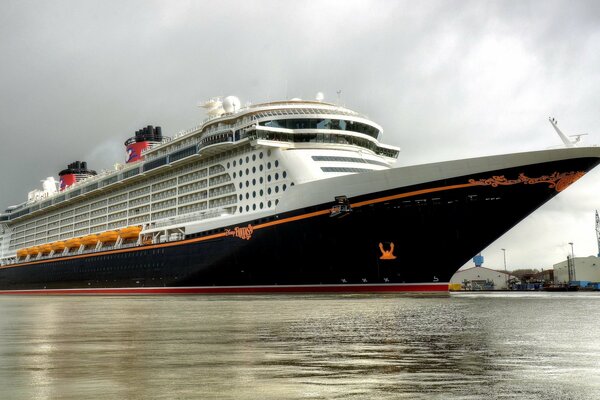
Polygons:
<instances>
[{"instance_id":1,"label":"entire cruise ship with black hull, white decks and red funnels","mask_svg":"<svg viewBox=\"0 0 600 400\"><path fill-rule=\"evenodd\" d=\"M381 126L322 96L202 106L201 125L126 135L108 171L67 160L2 212L0 293L447 292L600 162L565 146L396 167Z\"/></svg>"}]
</instances>

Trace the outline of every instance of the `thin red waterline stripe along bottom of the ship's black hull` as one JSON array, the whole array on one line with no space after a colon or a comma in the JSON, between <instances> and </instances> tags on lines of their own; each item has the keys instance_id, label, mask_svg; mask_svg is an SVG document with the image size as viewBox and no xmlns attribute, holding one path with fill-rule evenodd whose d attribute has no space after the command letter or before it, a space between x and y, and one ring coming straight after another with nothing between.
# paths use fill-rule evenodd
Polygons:
<instances>
[{"instance_id":1,"label":"thin red waterline stripe along bottom of the ship's black hull","mask_svg":"<svg viewBox=\"0 0 600 400\"><path fill-rule=\"evenodd\" d=\"M447 283L398 285L318 285L318 286L203 286L94 289L0 290L8 295L144 295L144 294L252 294L252 293L401 293L447 292Z\"/></svg>"}]
</instances>

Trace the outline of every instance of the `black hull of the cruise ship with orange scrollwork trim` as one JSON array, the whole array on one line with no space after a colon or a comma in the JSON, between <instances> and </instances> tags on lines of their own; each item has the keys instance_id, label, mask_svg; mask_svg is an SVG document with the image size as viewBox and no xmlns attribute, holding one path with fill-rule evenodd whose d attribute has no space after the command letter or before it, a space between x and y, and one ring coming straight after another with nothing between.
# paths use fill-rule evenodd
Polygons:
<instances>
[{"instance_id":1,"label":"black hull of the cruise ship with orange scrollwork trim","mask_svg":"<svg viewBox=\"0 0 600 400\"><path fill-rule=\"evenodd\" d=\"M350 212L331 202L180 242L13 264L0 269L0 290L447 291L458 268L598 162L464 175L352 197Z\"/></svg>"}]
</instances>

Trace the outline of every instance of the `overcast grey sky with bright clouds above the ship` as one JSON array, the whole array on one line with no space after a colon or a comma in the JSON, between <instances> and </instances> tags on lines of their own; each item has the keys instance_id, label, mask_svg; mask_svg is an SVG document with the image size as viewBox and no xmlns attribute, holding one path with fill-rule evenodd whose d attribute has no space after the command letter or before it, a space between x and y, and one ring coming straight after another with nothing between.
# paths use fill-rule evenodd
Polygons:
<instances>
[{"instance_id":1,"label":"overcast grey sky with bright clouds above the ship","mask_svg":"<svg viewBox=\"0 0 600 400\"><path fill-rule=\"evenodd\" d=\"M384 128L398 165L600 142L598 1L0 1L0 207L84 160L124 162L236 95L340 101ZM600 170L483 250L548 268L598 253ZM485 224L482 221L482 224ZM471 266L472 263L467 264Z\"/></svg>"}]
</instances>

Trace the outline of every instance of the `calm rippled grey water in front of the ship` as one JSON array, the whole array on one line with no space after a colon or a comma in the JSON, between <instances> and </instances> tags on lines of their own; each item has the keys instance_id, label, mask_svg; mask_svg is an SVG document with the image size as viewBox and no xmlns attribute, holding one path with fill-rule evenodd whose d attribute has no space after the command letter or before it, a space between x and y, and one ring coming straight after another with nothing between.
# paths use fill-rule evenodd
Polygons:
<instances>
[{"instance_id":1,"label":"calm rippled grey water in front of the ship","mask_svg":"<svg viewBox=\"0 0 600 400\"><path fill-rule=\"evenodd\" d=\"M2 399L598 399L600 293L0 297Z\"/></svg>"}]
</instances>

